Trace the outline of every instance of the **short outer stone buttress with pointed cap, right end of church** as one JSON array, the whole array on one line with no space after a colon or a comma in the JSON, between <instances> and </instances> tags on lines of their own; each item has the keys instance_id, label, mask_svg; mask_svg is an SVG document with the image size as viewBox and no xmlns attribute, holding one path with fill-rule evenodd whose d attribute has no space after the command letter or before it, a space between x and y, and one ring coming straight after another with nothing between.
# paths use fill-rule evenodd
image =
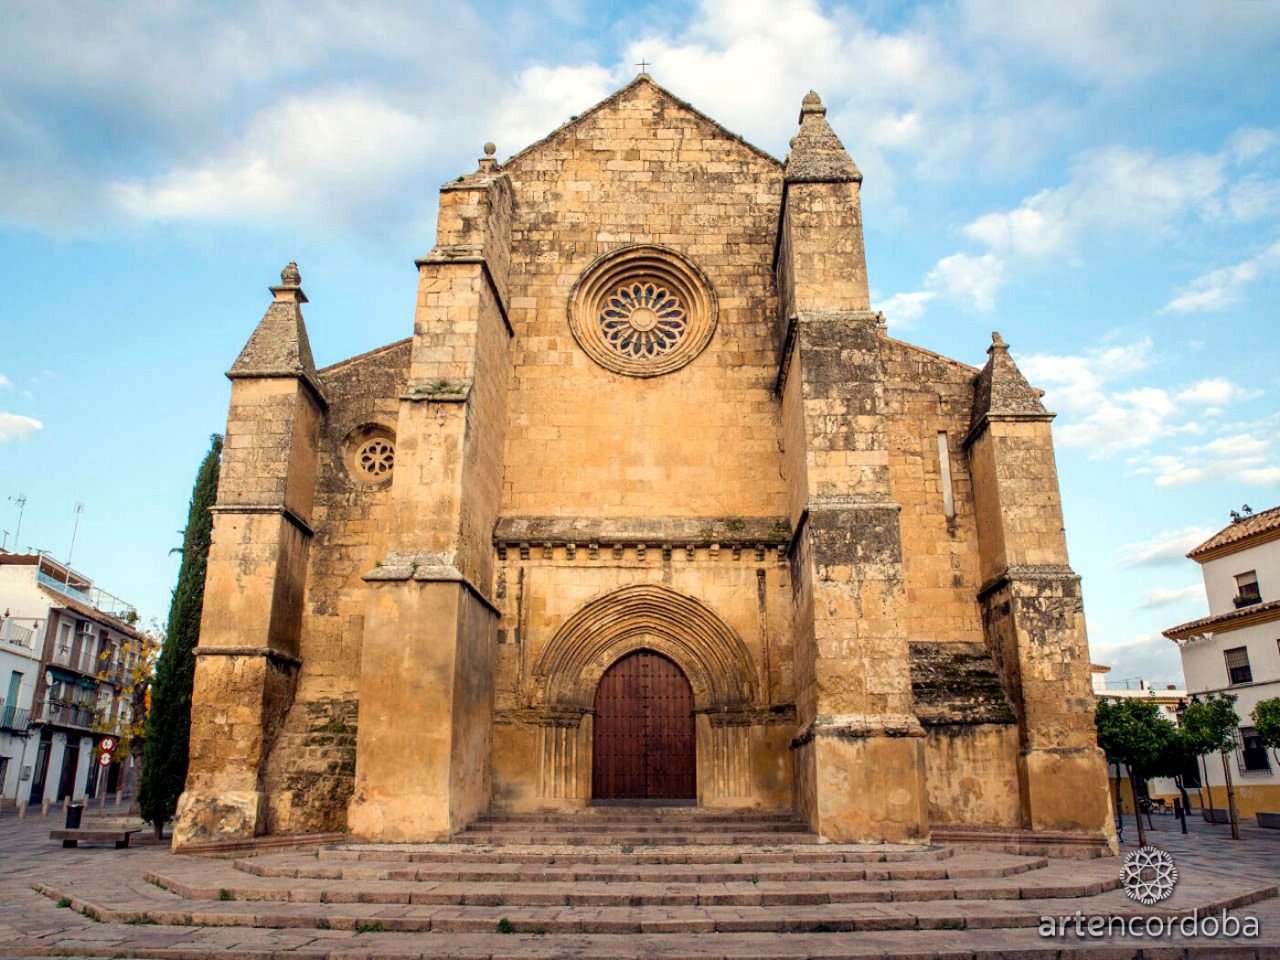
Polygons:
<instances>
[{"instance_id":1,"label":"short outer stone buttress with pointed cap, right end of church","mask_svg":"<svg viewBox=\"0 0 1280 960\"><path fill-rule=\"evenodd\" d=\"M1066 557L1053 415L998 333L987 355L965 445L978 518L983 628L1019 718L1024 826L1111 837L1080 579Z\"/></svg>"}]
</instances>

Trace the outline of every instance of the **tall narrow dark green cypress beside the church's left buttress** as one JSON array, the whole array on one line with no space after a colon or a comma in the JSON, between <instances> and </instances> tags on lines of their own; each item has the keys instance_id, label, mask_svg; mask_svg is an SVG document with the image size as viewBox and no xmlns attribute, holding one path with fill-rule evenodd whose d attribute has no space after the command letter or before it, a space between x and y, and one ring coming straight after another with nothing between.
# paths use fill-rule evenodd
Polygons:
<instances>
[{"instance_id":1,"label":"tall narrow dark green cypress beside the church's left buttress","mask_svg":"<svg viewBox=\"0 0 1280 960\"><path fill-rule=\"evenodd\" d=\"M164 824L173 819L178 797L187 782L191 690L196 676L200 613L205 603L209 541L214 530L210 508L218 495L221 452L223 438L214 434L191 494L178 585L169 604L169 627L156 662L151 709L147 713L138 809L142 819L155 827L156 837L163 836Z\"/></svg>"}]
</instances>

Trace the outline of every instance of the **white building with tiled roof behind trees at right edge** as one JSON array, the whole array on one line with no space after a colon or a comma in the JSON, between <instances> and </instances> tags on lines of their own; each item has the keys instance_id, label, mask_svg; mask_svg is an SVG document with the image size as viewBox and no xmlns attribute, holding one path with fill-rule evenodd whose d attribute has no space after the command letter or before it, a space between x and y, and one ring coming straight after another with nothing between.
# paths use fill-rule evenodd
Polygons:
<instances>
[{"instance_id":1,"label":"white building with tiled roof behind trees at right edge","mask_svg":"<svg viewBox=\"0 0 1280 960\"><path fill-rule=\"evenodd\" d=\"M1231 780L1240 815L1280 810L1280 772L1251 719L1260 700L1280 696L1280 507L1233 520L1187 556L1201 564L1210 614L1165 636L1181 653L1190 696L1236 696ZM1222 764L1207 759L1213 805L1226 806Z\"/></svg>"}]
</instances>

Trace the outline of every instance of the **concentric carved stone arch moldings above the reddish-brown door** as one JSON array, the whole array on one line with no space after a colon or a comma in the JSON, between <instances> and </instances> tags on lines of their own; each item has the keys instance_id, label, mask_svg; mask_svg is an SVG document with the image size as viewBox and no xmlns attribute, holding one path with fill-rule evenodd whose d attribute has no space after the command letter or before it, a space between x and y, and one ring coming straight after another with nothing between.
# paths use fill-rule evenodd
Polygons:
<instances>
[{"instance_id":1,"label":"concentric carved stone arch moldings above the reddish-brown door","mask_svg":"<svg viewBox=\"0 0 1280 960\"><path fill-rule=\"evenodd\" d=\"M755 667L737 634L691 596L636 584L589 602L556 631L534 667L543 703L589 710L604 671L640 649L680 666L699 712L741 710L753 700Z\"/></svg>"}]
</instances>

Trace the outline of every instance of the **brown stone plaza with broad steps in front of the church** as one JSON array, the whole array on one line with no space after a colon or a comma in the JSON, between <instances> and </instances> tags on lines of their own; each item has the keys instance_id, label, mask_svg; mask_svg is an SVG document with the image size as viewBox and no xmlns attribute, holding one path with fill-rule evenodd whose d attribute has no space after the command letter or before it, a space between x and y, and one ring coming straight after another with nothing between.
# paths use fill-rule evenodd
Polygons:
<instances>
[{"instance_id":1,"label":"brown stone plaza with broad steps in front of the church","mask_svg":"<svg viewBox=\"0 0 1280 960\"><path fill-rule=\"evenodd\" d=\"M662 817L649 817L659 822L654 829L664 829ZM655 846L570 832L550 846L547 837L530 836L526 824L494 818L481 828L488 832L448 845L349 845L319 859L314 851L288 851L237 863L173 856L146 835L129 850L63 849L49 840L60 815L17 819L6 812L0 817L0 955L1280 957L1280 900L1271 886L1280 879L1280 836L1253 826L1233 842L1222 827L1193 822L1183 836L1174 818L1153 818L1148 840L1169 850L1180 872L1178 892L1162 908L1228 902L1242 891L1271 896L1233 910L1258 919L1256 940L1174 937L1152 946L1070 933L1044 940L1028 920L1041 910L1107 915L1135 908L1116 888L1119 859L842 846L799 833L774 842L759 831L790 829L785 823L722 819L695 817L689 836L663 835L650 841ZM566 829L580 831L577 823ZM723 842L707 833L714 828L726 831ZM609 829L643 827L623 820ZM737 836L745 829L755 832ZM745 836L755 840L733 846ZM1125 837L1137 838L1132 820ZM562 890L572 892L562 897ZM817 891L842 895L819 899ZM881 896L884 891L891 896ZM627 924L636 929L622 932Z\"/></svg>"}]
</instances>

